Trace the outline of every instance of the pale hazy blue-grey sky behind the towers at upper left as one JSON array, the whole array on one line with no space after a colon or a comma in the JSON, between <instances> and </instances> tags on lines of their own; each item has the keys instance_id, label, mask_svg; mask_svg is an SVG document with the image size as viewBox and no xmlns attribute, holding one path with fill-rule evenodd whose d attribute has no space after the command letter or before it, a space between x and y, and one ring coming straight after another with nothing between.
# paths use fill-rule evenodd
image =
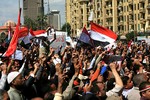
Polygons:
<instances>
[{"instance_id":1,"label":"pale hazy blue-grey sky behind the towers at upper left","mask_svg":"<svg viewBox=\"0 0 150 100\"><path fill-rule=\"evenodd\" d=\"M36 1L36 0L35 0ZM7 20L17 22L19 0L0 0L0 26ZM45 14L48 10L48 0L44 0ZM61 24L65 23L65 0L49 0L50 10L59 10L61 14ZM20 7L22 8L22 0L20 0ZM21 16L21 23L23 23L23 15Z\"/></svg>"}]
</instances>

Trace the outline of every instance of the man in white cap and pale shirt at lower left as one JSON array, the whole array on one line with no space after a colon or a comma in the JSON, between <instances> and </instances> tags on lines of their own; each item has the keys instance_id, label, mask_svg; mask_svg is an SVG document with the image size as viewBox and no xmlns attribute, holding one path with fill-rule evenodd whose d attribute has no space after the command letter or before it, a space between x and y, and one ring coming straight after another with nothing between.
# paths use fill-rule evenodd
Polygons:
<instances>
[{"instance_id":1,"label":"man in white cap and pale shirt at lower left","mask_svg":"<svg viewBox=\"0 0 150 100\"><path fill-rule=\"evenodd\" d=\"M7 81L10 84L10 89L8 90L10 100L25 100L20 91L24 84L22 75L17 71L10 72L7 76Z\"/></svg>"}]
</instances>

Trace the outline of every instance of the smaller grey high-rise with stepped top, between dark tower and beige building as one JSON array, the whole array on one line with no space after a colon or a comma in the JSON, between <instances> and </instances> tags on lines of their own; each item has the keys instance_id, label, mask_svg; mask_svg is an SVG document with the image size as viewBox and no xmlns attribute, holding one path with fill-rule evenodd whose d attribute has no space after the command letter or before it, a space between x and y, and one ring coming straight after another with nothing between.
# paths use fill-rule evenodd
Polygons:
<instances>
[{"instance_id":1,"label":"smaller grey high-rise with stepped top, between dark tower and beige building","mask_svg":"<svg viewBox=\"0 0 150 100\"><path fill-rule=\"evenodd\" d=\"M56 30L61 30L61 17L60 11L52 10L47 14L47 23Z\"/></svg>"}]
</instances>

